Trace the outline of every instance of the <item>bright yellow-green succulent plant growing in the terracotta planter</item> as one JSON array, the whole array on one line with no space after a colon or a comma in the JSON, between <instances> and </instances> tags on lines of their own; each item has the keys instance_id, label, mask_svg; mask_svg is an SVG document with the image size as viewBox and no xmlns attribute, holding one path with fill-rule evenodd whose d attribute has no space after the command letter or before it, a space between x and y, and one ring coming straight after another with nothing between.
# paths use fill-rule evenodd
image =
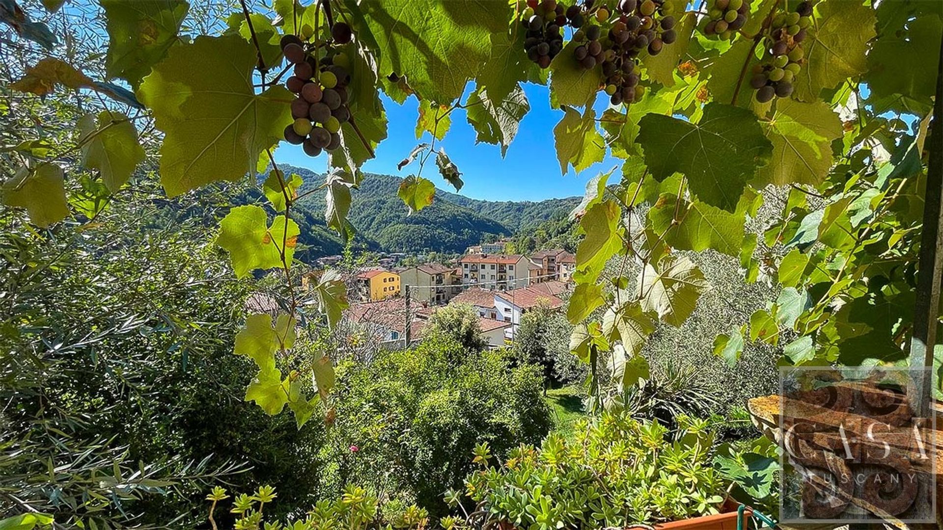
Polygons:
<instances>
[{"instance_id":1,"label":"bright yellow-green succulent plant growing in the terracotta planter","mask_svg":"<svg viewBox=\"0 0 943 530\"><path fill-rule=\"evenodd\" d=\"M658 422L604 414L575 439L551 435L539 448L521 445L500 468L488 447L475 449L481 469L466 490L489 522L518 528L622 528L718 513L724 483L711 466L706 422L680 419L676 440ZM448 495L455 500L455 493Z\"/></svg>"}]
</instances>

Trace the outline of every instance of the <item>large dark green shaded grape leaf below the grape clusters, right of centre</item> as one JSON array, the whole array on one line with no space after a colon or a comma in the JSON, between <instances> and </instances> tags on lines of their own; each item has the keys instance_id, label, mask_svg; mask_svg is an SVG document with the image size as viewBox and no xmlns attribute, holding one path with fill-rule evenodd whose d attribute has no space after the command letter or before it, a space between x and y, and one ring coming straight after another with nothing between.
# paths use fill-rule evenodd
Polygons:
<instances>
[{"instance_id":1,"label":"large dark green shaded grape leaf below the grape clusters, right of centre","mask_svg":"<svg viewBox=\"0 0 943 530\"><path fill-rule=\"evenodd\" d=\"M656 179L685 174L698 198L728 211L772 153L753 112L730 105L707 104L697 124L648 114L639 125L637 141Z\"/></svg>"}]
</instances>

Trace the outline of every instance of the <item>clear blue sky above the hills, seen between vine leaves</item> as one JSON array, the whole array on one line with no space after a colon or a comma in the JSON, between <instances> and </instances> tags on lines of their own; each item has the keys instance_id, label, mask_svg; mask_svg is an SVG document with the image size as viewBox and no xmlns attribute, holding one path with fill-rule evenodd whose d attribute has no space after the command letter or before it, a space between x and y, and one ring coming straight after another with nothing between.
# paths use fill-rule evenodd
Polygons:
<instances>
[{"instance_id":1,"label":"clear blue sky above the hills, seen between vine leaves","mask_svg":"<svg viewBox=\"0 0 943 530\"><path fill-rule=\"evenodd\" d=\"M554 150L554 125L563 118L563 111L550 108L547 87L526 84L524 92L531 109L521 121L518 135L508 147L505 158L501 157L501 147L498 145L475 144L475 132L466 119L465 110L456 108L452 112L452 127L445 140L438 145L445 147L446 153L462 173L465 181L465 186L459 191L462 195L493 201L539 201L583 195L589 178L620 164L620 160L607 158L580 174L574 174L570 168L568 174L561 175ZM381 97L389 120L387 140L382 141L376 149L376 158L366 162L362 169L369 173L406 176L418 169L418 162L406 166L402 172L397 171L396 164L420 142L416 140L419 101L411 96L400 106L382 94ZM604 104L604 98L599 99L598 103ZM605 108L605 105L601 107ZM422 141L430 140L426 133ZM275 161L318 172L323 171L327 164L326 155L306 157L300 146L286 142L275 151ZM434 162L432 158L429 159L422 176L432 180L442 190L455 191L438 174Z\"/></svg>"}]
</instances>

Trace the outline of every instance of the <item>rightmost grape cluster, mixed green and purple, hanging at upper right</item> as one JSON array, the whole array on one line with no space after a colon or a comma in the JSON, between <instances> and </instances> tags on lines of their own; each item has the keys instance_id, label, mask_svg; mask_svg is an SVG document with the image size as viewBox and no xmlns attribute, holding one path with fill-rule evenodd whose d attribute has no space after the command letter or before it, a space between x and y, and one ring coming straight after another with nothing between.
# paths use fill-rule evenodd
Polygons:
<instances>
[{"instance_id":1,"label":"rightmost grape cluster, mixed green and purple, hanging at upper right","mask_svg":"<svg viewBox=\"0 0 943 530\"><path fill-rule=\"evenodd\" d=\"M772 19L765 39L766 53L753 67L750 86L756 90L756 101L766 103L775 97L789 97L792 81L800 70L805 52L805 28L812 24L812 5L802 2L795 11L779 13Z\"/></svg>"}]
</instances>

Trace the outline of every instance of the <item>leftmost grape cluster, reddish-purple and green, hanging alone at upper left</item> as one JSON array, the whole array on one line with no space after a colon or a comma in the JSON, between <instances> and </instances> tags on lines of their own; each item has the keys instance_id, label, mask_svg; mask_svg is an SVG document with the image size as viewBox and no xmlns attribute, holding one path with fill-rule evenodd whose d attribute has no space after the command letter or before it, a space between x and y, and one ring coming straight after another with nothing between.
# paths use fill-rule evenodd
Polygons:
<instances>
[{"instance_id":1,"label":"leftmost grape cluster, reddish-purple and green, hanging alone at upper left","mask_svg":"<svg viewBox=\"0 0 943 530\"><path fill-rule=\"evenodd\" d=\"M351 41L349 25L337 23L331 28L335 43ZM347 85L350 58L338 48L324 45L324 56L306 50L306 43L294 35L281 40L282 54L294 65L285 86L298 95L291 102L294 122L285 127L285 140L302 145L308 157L321 155L323 149L333 151L340 146L340 124L350 120L347 108Z\"/></svg>"}]
</instances>

